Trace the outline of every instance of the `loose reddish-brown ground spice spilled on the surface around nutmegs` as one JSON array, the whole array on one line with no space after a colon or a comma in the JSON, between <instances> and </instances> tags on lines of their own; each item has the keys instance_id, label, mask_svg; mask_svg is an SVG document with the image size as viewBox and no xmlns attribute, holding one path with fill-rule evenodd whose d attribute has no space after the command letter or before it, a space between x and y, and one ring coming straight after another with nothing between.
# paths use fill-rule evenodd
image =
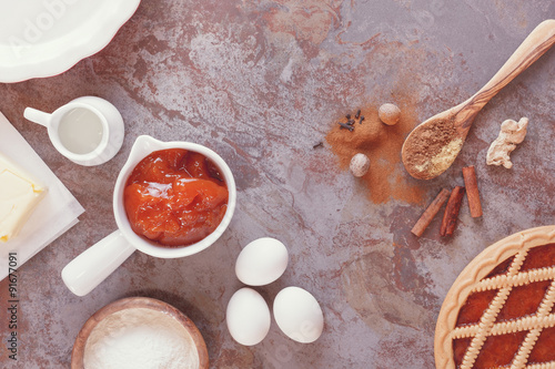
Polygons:
<instances>
[{"instance_id":1,"label":"loose reddish-brown ground spice spilled on the surface around nutmegs","mask_svg":"<svg viewBox=\"0 0 555 369\"><path fill-rule=\"evenodd\" d=\"M370 158L370 171L361 177L367 188L369 198L374 204L383 204L390 199L398 199L408 204L422 204L424 191L416 180L404 170L401 162L401 147L407 134L420 123L412 104L395 102L401 109L397 124L389 126L377 116L379 106L361 109L364 121L356 120L352 130L337 124L345 124L345 116L335 120L325 140L337 156L340 167L349 170L353 155L363 153ZM347 114L355 115L354 112Z\"/></svg>"}]
</instances>

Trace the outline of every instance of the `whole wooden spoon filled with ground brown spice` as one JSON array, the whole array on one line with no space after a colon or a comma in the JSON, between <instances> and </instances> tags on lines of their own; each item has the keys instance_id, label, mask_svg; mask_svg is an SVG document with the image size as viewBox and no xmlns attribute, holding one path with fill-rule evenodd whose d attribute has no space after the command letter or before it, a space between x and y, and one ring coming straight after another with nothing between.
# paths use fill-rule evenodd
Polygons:
<instances>
[{"instance_id":1,"label":"whole wooden spoon filled with ground brown spice","mask_svg":"<svg viewBox=\"0 0 555 369\"><path fill-rule=\"evenodd\" d=\"M406 137L401 155L415 178L432 180L455 161L480 110L501 89L532 65L555 43L555 20L539 23L505 64L478 92L417 125Z\"/></svg>"}]
</instances>

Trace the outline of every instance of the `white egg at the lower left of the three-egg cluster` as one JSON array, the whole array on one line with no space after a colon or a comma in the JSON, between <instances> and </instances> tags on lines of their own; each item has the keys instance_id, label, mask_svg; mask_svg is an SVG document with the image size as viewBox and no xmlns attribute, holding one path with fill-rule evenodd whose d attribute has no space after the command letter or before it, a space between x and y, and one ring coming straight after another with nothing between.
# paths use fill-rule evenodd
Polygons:
<instances>
[{"instance_id":1,"label":"white egg at the lower left of the three-egg cluster","mask_svg":"<svg viewBox=\"0 0 555 369\"><path fill-rule=\"evenodd\" d=\"M231 337L241 345L256 345L270 330L270 308L259 293L243 287L228 303L225 321Z\"/></svg>"}]
</instances>

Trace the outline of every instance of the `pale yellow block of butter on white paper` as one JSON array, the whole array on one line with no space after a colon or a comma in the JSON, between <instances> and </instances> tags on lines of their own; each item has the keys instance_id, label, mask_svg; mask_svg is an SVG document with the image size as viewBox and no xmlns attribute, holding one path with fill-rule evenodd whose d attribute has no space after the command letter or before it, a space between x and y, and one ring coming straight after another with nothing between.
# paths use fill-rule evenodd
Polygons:
<instances>
[{"instance_id":1,"label":"pale yellow block of butter on white paper","mask_svg":"<svg viewBox=\"0 0 555 369\"><path fill-rule=\"evenodd\" d=\"M0 243L18 235L44 191L0 153Z\"/></svg>"}]
</instances>

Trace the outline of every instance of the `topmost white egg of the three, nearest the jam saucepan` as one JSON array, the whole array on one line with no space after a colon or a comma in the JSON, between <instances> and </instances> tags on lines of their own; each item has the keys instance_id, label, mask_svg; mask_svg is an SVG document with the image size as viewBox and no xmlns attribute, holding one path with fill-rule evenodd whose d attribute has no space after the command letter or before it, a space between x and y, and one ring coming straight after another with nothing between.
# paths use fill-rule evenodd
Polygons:
<instances>
[{"instance_id":1,"label":"topmost white egg of the three, nearest the jam saucepan","mask_svg":"<svg viewBox=\"0 0 555 369\"><path fill-rule=\"evenodd\" d=\"M285 245L275 238L263 237L241 250L235 263L235 274L245 285L264 286L280 278L287 263Z\"/></svg>"}]
</instances>

